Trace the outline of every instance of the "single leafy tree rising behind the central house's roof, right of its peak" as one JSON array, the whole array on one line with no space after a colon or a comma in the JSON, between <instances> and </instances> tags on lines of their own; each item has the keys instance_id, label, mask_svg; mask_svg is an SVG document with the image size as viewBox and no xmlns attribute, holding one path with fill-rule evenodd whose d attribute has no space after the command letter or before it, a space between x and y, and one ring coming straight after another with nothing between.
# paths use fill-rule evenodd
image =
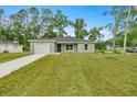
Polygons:
<instances>
[{"instance_id":1,"label":"single leafy tree rising behind the central house's roof, right of its peak","mask_svg":"<svg viewBox=\"0 0 137 102\"><path fill-rule=\"evenodd\" d=\"M76 19L75 22L72 24L74 27L74 33L77 38L84 38L86 35L88 35L85 26L84 19Z\"/></svg>"}]
</instances>

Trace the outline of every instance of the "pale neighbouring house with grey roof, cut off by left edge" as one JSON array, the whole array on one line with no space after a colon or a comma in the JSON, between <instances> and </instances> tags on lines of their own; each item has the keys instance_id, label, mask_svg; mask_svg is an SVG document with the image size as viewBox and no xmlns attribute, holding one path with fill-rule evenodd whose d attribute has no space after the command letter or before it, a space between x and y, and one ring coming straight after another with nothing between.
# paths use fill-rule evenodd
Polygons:
<instances>
[{"instance_id":1,"label":"pale neighbouring house with grey roof, cut off by left edge","mask_svg":"<svg viewBox=\"0 0 137 102\"><path fill-rule=\"evenodd\" d=\"M0 41L0 53L22 53L23 46L18 43Z\"/></svg>"}]
</instances>

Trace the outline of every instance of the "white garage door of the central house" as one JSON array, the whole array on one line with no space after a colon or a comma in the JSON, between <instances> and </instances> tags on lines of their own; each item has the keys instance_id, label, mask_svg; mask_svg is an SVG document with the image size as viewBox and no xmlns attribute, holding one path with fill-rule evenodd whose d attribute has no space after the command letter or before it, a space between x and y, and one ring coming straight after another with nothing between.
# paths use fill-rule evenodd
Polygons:
<instances>
[{"instance_id":1,"label":"white garage door of the central house","mask_svg":"<svg viewBox=\"0 0 137 102\"><path fill-rule=\"evenodd\" d=\"M49 43L35 43L34 53L35 54L50 54L50 44Z\"/></svg>"}]
</instances>

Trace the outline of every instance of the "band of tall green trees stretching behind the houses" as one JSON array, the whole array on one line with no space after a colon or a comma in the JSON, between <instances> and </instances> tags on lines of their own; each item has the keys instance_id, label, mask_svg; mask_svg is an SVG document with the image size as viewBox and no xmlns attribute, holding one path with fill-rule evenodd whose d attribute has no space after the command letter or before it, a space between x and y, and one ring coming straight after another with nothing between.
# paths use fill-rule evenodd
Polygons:
<instances>
[{"instance_id":1,"label":"band of tall green trees stretching behind the houses","mask_svg":"<svg viewBox=\"0 0 137 102\"><path fill-rule=\"evenodd\" d=\"M94 26L88 30L84 19L76 18L72 21L61 10L53 12L51 9L31 7L29 9L21 9L8 16L4 13L6 11L0 9L0 41L18 41L24 45L25 50L29 49L28 39L68 36L66 32L67 26L73 27L75 37L86 37L98 44L102 43L103 37L101 31L107 29L113 34L113 38L108 41L113 42L114 50L116 45L124 46L124 35L125 31L127 31L127 46L137 46L137 10L134 7L130 7L127 30L128 7L126 5L112 7L112 10L103 13L103 15L112 15L114 18L113 23L102 27Z\"/></svg>"}]
</instances>

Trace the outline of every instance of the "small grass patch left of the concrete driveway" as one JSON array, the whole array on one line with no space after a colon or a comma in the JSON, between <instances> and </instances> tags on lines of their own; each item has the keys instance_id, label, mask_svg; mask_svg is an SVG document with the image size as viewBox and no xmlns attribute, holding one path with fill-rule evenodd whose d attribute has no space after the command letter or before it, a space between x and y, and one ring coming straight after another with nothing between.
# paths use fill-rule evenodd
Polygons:
<instances>
[{"instance_id":1,"label":"small grass patch left of the concrete driveway","mask_svg":"<svg viewBox=\"0 0 137 102\"><path fill-rule=\"evenodd\" d=\"M0 53L0 64L29 55L29 53Z\"/></svg>"}]
</instances>

